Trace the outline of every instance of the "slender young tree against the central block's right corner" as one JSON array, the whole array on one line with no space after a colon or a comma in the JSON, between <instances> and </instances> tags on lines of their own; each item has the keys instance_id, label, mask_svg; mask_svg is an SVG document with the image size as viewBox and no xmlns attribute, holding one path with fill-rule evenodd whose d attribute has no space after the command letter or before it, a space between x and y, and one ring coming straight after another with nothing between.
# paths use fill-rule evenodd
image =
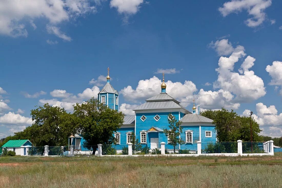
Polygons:
<instances>
[{"instance_id":1,"label":"slender young tree against the central block's right corner","mask_svg":"<svg viewBox=\"0 0 282 188\"><path fill-rule=\"evenodd\" d=\"M173 146L173 152L175 153L175 146L184 143L184 141L180 137L183 129L182 127L180 127L182 121L176 120L175 116L169 114L168 123L169 129L164 129L164 134L168 137L169 144Z\"/></svg>"}]
</instances>

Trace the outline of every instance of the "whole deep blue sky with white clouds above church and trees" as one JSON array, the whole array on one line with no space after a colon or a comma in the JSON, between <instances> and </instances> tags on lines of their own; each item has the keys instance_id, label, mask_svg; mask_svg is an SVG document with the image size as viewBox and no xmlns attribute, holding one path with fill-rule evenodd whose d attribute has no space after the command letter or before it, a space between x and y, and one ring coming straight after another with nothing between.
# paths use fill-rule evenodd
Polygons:
<instances>
[{"instance_id":1,"label":"whole deep blue sky with white clouds above church and trees","mask_svg":"<svg viewBox=\"0 0 282 188\"><path fill-rule=\"evenodd\" d=\"M97 96L107 67L125 114L160 92L164 71L168 94L188 110L193 98L201 110L251 110L262 134L282 136L281 6L271 0L1 1L0 138L29 126L36 105L71 112L72 104Z\"/></svg>"}]
</instances>

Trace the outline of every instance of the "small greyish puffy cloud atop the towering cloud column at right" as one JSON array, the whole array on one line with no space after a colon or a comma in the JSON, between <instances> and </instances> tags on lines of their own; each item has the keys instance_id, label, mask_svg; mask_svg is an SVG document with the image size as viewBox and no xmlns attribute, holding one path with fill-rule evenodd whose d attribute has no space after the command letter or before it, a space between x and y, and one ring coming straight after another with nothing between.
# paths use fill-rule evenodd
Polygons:
<instances>
[{"instance_id":1,"label":"small greyish puffy cloud atop the towering cloud column at right","mask_svg":"<svg viewBox=\"0 0 282 188\"><path fill-rule=\"evenodd\" d=\"M234 51L234 48L232 47L232 44L228 42L228 39L217 40L215 43L211 41L209 47L215 49L219 56L230 55Z\"/></svg>"}]
</instances>

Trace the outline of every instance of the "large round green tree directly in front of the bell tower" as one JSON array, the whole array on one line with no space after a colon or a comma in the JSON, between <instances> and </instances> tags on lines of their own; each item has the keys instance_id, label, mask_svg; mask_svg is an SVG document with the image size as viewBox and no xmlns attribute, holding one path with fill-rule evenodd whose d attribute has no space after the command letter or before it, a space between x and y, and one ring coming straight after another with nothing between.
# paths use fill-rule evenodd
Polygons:
<instances>
[{"instance_id":1,"label":"large round green tree directly in front of the bell tower","mask_svg":"<svg viewBox=\"0 0 282 188\"><path fill-rule=\"evenodd\" d=\"M114 143L113 132L120 128L124 121L122 112L109 109L94 98L82 104L76 103L72 116L66 123L72 124L73 126L69 126L74 127L75 132L81 133L85 140L84 147L91 149L94 146L92 154L95 154L97 144Z\"/></svg>"}]
</instances>

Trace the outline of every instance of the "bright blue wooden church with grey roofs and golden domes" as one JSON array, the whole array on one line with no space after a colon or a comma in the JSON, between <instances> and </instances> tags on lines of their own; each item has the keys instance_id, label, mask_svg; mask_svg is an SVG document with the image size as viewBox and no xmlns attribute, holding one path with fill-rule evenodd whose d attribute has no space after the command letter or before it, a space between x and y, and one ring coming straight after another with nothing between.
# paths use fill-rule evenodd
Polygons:
<instances>
[{"instance_id":1,"label":"bright blue wooden church with grey roofs and golden domes","mask_svg":"<svg viewBox=\"0 0 282 188\"><path fill-rule=\"evenodd\" d=\"M132 133L142 144L147 144L155 148L161 142L169 143L168 137L163 133L168 129L168 118L181 120L182 133L181 138L184 145L193 145L197 141L215 142L216 132L215 125L211 119L196 114L195 101L192 112L186 110L180 102L166 93L166 84L163 82L160 86L161 92L156 96L147 99L145 103L139 105L133 111L134 116L125 115L123 125L114 132L116 144L127 144L131 142ZM98 99L107 107L118 110L118 92L110 84L109 68L107 83L98 93ZM169 116L171 114L172 116ZM79 136L79 135L77 135ZM72 137L72 138L71 138ZM69 137L69 143L82 145L80 136L79 142L76 142L75 136ZM82 140L81 140L82 139Z\"/></svg>"}]
</instances>

